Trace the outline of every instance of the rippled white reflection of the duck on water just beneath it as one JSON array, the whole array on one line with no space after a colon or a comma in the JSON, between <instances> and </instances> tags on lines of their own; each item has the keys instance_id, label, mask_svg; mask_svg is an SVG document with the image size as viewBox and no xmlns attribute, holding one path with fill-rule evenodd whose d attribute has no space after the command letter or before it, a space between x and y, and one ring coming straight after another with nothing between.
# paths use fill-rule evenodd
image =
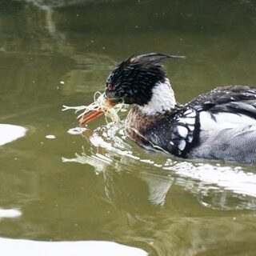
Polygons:
<instances>
[{"instance_id":1,"label":"rippled white reflection of the duck on water just beneath it","mask_svg":"<svg viewBox=\"0 0 256 256\"><path fill-rule=\"evenodd\" d=\"M81 134L81 130L78 134ZM111 123L94 131L86 129L83 136L94 147L89 151L83 149L74 158L62 158L63 162L89 164L94 166L97 174L102 172L104 178L108 166L114 167L115 171L132 172L146 182L148 200L154 205L165 202L166 194L175 182L194 194L203 206L223 210L256 209L256 174L250 170L251 166L182 161L164 154L146 152L134 144L128 144L123 127L112 126ZM106 188L107 191L109 188Z\"/></svg>"}]
</instances>

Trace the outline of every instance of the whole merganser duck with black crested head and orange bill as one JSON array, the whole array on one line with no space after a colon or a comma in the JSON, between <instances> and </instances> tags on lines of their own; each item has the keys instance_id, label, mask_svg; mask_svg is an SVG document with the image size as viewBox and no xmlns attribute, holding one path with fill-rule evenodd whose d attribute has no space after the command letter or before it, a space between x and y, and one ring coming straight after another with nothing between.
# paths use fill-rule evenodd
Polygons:
<instances>
[{"instance_id":1,"label":"whole merganser duck with black crested head and orange bill","mask_svg":"<svg viewBox=\"0 0 256 256\"><path fill-rule=\"evenodd\" d=\"M146 149L179 158L255 163L256 87L218 87L180 105L160 64L166 58L183 57L132 56L106 80L104 97L109 105L132 105L126 117L128 137ZM89 122L102 113L87 113L79 121Z\"/></svg>"}]
</instances>

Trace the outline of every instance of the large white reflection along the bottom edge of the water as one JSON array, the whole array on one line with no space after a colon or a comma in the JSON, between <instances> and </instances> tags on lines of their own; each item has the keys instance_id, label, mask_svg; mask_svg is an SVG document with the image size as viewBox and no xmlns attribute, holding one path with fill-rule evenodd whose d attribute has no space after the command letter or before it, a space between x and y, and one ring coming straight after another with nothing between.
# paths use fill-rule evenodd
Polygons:
<instances>
[{"instance_id":1,"label":"large white reflection along the bottom edge of the water","mask_svg":"<svg viewBox=\"0 0 256 256\"><path fill-rule=\"evenodd\" d=\"M10 238L0 238L0 253L9 256L148 255L142 249L108 241L42 242Z\"/></svg>"}]
</instances>

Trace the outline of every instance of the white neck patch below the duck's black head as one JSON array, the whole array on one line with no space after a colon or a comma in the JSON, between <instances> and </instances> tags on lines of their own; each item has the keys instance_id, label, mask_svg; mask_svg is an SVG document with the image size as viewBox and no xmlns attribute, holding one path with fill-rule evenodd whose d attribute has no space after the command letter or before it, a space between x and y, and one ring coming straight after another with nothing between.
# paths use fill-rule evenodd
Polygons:
<instances>
[{"instance_id":1,"label":"white neck patch below the duck's black head","mask_svg":"<svg viewBox=\"0 0 256 256\"><path fill-rule=\"evenodd\" d=\"M165 82L158 82L152 90L152 98L144 106L138 106L143 114L164 113L174 109L176 100L174 91L171 89L170 81L166 78Z\"/></svg>"}]
</instances>

